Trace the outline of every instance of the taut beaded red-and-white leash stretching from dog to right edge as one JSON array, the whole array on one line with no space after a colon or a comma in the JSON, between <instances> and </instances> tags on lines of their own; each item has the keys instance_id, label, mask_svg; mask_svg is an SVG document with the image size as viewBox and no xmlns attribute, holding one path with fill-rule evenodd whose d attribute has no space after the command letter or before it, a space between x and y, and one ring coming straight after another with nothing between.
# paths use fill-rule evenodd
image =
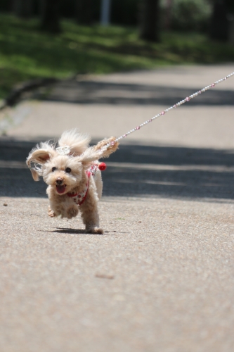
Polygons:
<instances>
[{"instance_id":1,"label":"taut beaded red-and-white leash stretching from dog to right edge","mask_svg":"<svg viewBox=\"0 0 234 352\"><path fill-rule=\"evenodd\" d=\"M160 118L160 116L162 115L165 115L165 113L167 113L168 111L172 110L173 108L177 108L177 106L181 106L182 104L184 103L187 103L188 101L190 101L190 99L193 99L195 98L195 96L199 95L199 94L202 94L204 92L206 92L207 90L211 89L211 88L214 88L216 86L216 84L219 84L223 81L226 81L228 80L228 78L232 77L234 75L234 72L233 73L230 73L230 75L227 75L226 77L224 78L221 78L221 80L218 80L212 84L209 84L209 86L207 87L204 87L203 89L199 90L198 92L190 95L190 96L187 96L186 99L183 99L181 101L179 101L178 103L176 103L175 105L171 106L170 108L167 108L166 110L162 111L162 113L158 113L157 115L155 115L153 118L150 118L150 120L147 120L143 123L141 123L141 125L138 125L137 127L135 127L133 130L130 130L129 132L126 132L125 134L122 134L122 136L118 137L117 139L115 139L115 141L111 142L111 143L108 143L106 144L105 146L103 146L102 150L106 150L108 149L109 146L113 146L116 142L118 142L120 139L122 138L126 138L129 134L131 133L134 133L138 130L140 130L141 127L144 127L145 125L147 125L149 122L152 122L153 120L155 120L156 118Z\"/></svg>"}]
</instances>

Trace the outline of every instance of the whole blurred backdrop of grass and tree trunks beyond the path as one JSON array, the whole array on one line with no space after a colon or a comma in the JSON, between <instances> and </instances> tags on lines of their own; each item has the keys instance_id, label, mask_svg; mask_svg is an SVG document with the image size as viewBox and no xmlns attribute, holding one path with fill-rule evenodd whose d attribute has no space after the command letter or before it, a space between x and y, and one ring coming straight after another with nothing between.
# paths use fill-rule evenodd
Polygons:
<instances>
[{"instance_id":1,"label":"whole blurred backdrop of grass and tree trunks beyond the path","mask_svg":"<svg viewBox=\"0 0 234 352\"><path fill-rule=\"evenodd\" d=\"M233 59L233 0L0 1L0 99L39 78Z\"/></svg>"}]
</instances>

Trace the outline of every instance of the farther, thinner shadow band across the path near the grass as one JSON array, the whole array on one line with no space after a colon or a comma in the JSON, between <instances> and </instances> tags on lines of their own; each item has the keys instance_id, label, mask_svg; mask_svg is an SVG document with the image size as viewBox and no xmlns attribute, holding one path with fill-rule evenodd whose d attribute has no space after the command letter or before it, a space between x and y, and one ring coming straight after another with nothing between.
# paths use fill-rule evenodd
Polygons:
<instances>
[{"instance_id":1,"label":"farther, thinner shadow band across the path near the grass","mask_svg":"<svg viewBox=\"0 0 234 352\"><path fill-rule=\"evenodd\" d=\"M112 82L95 82L91 80L65 80L56 84L48 95L36 94L38 99L48 101L63 101L79 104L124 104L124 105L166 105L172 106L186 96L198 92L197 89L162 87L157 84L124 84ZM232 90L210 89L205 94L192 99L193 106L226 105L233 106L234 92Z\"/></svg>"}]
</instances>

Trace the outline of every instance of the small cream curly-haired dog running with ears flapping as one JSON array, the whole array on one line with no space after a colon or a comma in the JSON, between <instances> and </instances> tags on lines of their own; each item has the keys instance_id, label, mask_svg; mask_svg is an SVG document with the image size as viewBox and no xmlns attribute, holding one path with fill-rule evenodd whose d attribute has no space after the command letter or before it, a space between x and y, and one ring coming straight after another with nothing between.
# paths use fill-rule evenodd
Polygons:
<instances>
[{"instance_id":1,"label":"small cream curly-haired dog running with ears flapping","mask_svg":"<svg viewBox=\"0 0 234 352\"><path fill-rule=\"evenodd\" d=\"M110 156L118 143L115 137L103 139L92 147L89 142L90 137L77 130L66 131L58 141L58 148L51 142L41 142L32 149L27 165L35 181L42 176L48 184L51 218L60 215L71 219L80 210L86 232L103 234L99 227L98 200L103 191L100 170L104 163L98 163L98 159Z\"/></svg>"}]
</instances>

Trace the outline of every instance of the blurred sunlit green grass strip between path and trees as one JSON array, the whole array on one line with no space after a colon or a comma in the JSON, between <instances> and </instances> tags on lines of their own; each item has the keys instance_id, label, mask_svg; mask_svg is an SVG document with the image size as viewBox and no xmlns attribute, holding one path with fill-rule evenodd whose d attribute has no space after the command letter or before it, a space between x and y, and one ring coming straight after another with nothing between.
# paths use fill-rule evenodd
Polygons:
<instances>
[{"instance_id":1,"label":"blurred sunlit green grass strip between path and trees","mask_svg":"<svg viewBox=\"0 0 234 352\"><path fill-rule=\"evenodd\" d=\"M126 27L78 26L64 20L58 35L39 31L38 20L0 15L0 98L18 82L78 73L112 73L160 65L233 61L234 47L196 33L162 33L159 44Z\"/></svg>"}]
</instances>

